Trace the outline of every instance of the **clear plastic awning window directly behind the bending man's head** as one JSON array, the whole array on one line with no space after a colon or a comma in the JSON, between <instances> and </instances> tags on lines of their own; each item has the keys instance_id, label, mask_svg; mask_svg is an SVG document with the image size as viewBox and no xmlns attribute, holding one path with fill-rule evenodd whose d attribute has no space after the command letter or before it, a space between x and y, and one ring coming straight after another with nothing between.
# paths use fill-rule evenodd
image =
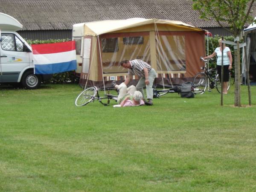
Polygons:
<instances>
[{"instance_id":1,"label":"clear plastic awning window directly behind the bending man's head","mask_svg":"<svg viewBox=\"0 0 256 192\"><path fill-rule=\"evenodd\" d=\"M149 33L109 34L100 38L104 74L127 73L122 60L141 59L150 64Z\"/></svg>"}]
</instances>

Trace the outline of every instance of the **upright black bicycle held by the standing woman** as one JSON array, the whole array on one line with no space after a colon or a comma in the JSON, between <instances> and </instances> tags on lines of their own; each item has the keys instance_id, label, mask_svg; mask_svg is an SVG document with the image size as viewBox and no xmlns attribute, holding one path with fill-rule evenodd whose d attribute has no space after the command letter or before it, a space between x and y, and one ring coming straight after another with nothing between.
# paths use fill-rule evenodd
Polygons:
<instances>
[{"instance_id":1,"label":"upright black bicycle held by the standing woman","mask_svg":"<svg viewBox=\"0 0 256 192\"><path fill-rule=\"evenodd\" d=\"M203 59L203 58L201 58L201 60L205 62L204 67L201 67L201 69L204 70L204 72L200 72L200 73L197 73L195 75L194 80L193 80L193 83L195 84L195 87L203 90L203 92L201 93L201 94L203 94L206 91L206 88L208 86L208 81L209 81L209 87L211 89L216 87L217 91L219 93L221 93L221 81L220 81L220 78L218 76L216 68L212 68L212 69L207 70L207 62L209 60L213 60L213 59ZM214 72L214 71L216 73L212 74L212 72ZM227 90L229 90L230 84L231 84L231 75L229 74L229 83L228 83Z\"/></svg>"}]
</instances>

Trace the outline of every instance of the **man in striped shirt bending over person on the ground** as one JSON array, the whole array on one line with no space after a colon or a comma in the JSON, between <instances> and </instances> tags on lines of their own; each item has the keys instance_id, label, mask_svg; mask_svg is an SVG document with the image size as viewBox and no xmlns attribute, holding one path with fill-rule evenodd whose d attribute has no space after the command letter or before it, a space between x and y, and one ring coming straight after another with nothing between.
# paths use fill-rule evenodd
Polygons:
<instances>
[{"instance_id":1,"label":"man in striped shirt bending over person on the ground","mask_svg":"<svg viewBox=\"0 0 256 192\"><path fill-rule=\"evenodd\" d=\"M145 100L143 87L146 86L147 99L148 102L145 101L146 105L153 105L153 82L157 77L156 71L151 68L149 64L146 62L135 59L132 61L124 60L120 62L122 67L128 69L128 76L125 79L125 84L128 85L132 79L133 75L139 76L140 80L136 85L136 89L139 90L143 94L143 99Z\"/></svg>"}]
</instances>

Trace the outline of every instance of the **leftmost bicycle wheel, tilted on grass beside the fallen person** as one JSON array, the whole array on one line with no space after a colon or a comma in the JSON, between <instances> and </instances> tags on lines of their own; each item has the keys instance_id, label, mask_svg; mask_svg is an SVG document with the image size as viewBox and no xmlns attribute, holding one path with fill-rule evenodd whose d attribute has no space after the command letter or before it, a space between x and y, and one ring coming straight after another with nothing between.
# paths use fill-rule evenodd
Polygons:
<instances>
[{"instance_id":1,"label":"leftmost bicycle wheel, tilted on grass beside the fallen person","mask_svg":"<svg viewBox=\"0 0 256 192\"><path fill-rule=\"evenodd\" d=\"M96 88L90 87L85 90L83 90L79 96L76 97L75 104L76 106L84 106L87 103L91 102L96 95Z\"/></svg>"}]
</instances>

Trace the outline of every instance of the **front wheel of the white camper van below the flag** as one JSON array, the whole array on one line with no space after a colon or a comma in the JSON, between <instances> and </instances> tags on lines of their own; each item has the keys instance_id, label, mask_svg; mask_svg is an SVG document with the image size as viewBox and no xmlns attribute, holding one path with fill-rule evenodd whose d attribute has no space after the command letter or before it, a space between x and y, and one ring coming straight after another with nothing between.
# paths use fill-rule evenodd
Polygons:
<instances>
[{"instance_id":1,"label":"front wheel of the white camper van below the flag","mask_svg":"<svg viewBox=\"0 0 256 192\"><path fill-rule=\"evenodd\" d=\"M32 71L27 71L22 76L21 84L26 89L37 89L41 85L41 76L33 74Z\"/></svg>"}]
</instances>

